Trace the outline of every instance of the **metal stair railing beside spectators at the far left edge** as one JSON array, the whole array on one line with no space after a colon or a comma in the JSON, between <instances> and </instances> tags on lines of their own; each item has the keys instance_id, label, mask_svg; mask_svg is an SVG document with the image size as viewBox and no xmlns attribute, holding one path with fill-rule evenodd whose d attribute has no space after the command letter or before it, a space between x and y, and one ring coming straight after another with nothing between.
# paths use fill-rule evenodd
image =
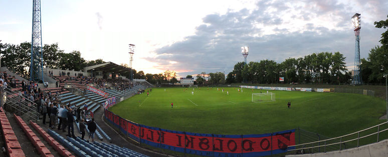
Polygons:
<instances>
[{"instance_id":1,"label":"metal stair railing beside spectators at the far left edge","mask_svg":"<svg viewBox=\"0 0 388 157\"><path fill-rule=\"evenodd\" d=\"M23 95L14 91L12 87L0 87L1 104L4 108L21 116L24 119L38 121L39 113L37 104Z\"/></svg>"}]
</instances>

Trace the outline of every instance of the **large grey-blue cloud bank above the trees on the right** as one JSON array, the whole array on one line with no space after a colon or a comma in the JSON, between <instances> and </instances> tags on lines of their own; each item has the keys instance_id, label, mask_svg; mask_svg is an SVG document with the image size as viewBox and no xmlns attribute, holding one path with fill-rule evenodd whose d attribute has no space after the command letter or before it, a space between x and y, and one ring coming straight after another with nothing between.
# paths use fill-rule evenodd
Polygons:
<instances>
[{"instance_id":1,"label":"large grey-blue cloud bank above the trees on the right","mask_svg":"<svg viewBox=\"0 0 388 157\"><path fill-rule=\"evenodd\" d=\"M375 15L362 21L361 57L378 44L382 30L374 28L373 21L386 17L385 0L358 0L358 7ZM376 11L379 10L379 11ZM175 69L181 76L202 71L230 72L237 61L242 61L240 47L249 46L248 61L273 59L277 62L288 57L299 57L313 52L340 51L351 66L354 58L354 34L350 17L355 13L350 3L337 0L262 0L253 10L241 9L225 14L209 14L196 33L183 40L165 45L146 58L161 68Z\"/></svg>"}]
</instances>

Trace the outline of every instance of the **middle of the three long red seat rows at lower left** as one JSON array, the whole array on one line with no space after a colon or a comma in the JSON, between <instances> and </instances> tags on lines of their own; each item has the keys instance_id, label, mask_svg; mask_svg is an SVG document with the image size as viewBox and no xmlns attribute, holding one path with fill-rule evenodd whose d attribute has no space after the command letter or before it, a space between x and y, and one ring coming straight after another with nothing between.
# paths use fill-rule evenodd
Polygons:
<instances>
[{"instance_id":1,"label":"middle of the three long red seat rows at lower left","mask_svg":"<svg viewBox=\"0 0 388 157\"><path fill-rule=\"evenodd\" d=\"M31 140L34 146L37 148L38 152L41 156L53 156L50 150L46 147L46 145L41 141L41 139L32 131L32 129L27 125L26 122L14 113L16 121L22 127L24 133L26 133L27 137Z\"/></svg>"}]
</instances>

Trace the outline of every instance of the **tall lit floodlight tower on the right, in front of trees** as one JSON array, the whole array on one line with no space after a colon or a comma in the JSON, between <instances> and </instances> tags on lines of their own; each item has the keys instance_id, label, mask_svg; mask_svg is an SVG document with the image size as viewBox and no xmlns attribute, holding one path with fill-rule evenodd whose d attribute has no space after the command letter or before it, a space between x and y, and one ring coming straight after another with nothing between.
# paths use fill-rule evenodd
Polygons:
<instances>
[{"instance_id":1,"label":"tall lit floodlight tower on the right, in front of trees","mask_svg":"<svg viewBox=\"0 0 388 157\"><path fill-rule=\"evenodd\" d=\"M353 30L355 35L355 57L354 57L354 73L353 73L353 84L362 84L361 80L361 68L360 68L360 15L359 13L355 13L351 20L353 22Z\"/></svg>"}]
</instances>

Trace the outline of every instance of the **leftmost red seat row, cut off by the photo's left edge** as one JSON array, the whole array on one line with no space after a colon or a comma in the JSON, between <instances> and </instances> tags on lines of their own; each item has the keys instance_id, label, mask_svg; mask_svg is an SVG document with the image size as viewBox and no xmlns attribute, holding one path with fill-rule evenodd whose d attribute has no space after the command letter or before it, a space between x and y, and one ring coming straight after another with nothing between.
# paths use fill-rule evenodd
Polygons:
<instances>
[{"instance_id":1,"label":"leftmost red seat row, cut off by the photo's left edge","mask_svg":"<svg viewBox=\"0 0 388 157\"><path fill-rule=\"evenodd\" d=\"M22 146L20 145L18 138L15 135L14 130L12 129L6 113L2 107L0 107L0 110L2 111L0 112L0 123L2 125L2 131L6 141L8 155L11 157L26 156L22 150Z\"/></svg>"}]
</instances>

